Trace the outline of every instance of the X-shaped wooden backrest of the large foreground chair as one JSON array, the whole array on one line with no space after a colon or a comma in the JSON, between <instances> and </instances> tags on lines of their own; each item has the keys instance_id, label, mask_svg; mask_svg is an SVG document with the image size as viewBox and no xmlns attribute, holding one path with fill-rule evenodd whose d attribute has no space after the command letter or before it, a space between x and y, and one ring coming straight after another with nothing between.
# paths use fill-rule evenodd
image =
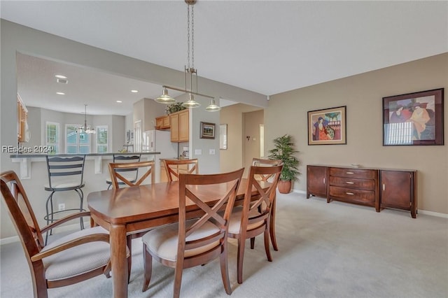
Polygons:
<instances>
[{"instance_id":1,"label":"X-shaped wooden backrest of the large foreground chair","mask_svg":"<svg viewBox=\"0 0 448 298\"><path fill-rule=\"evenodd\" d=\"M179 177L179 244L177 262L183 259L186 250L205 247L204 253L198 256L197 260L188 260L196 264L204 264L207 260L213 260L222 250L222 246L227 246L228 224L241 177L244 169L232 171L230 173L219 173L209 175L181 173ZM216 201L213 206L209 201ZM194 220L193 225L186 225L186 202L193 203L200 208L202 216ZM225 205L227 204L227 205ZM225 206L224 213L218 213ZM187 237L200 229L204 224L211 222L216 226L214 234L194 237L191 241L186 241ZM215 228L214 228L215 229ZM215 243L219 243L215 245ZM225 249L224 248L224 249ZM189 263L191 264L191 263ZM193 264L192 264L193 265ZM186 266L190 267L190 266Z\"/></svg>"}]
</instances>

